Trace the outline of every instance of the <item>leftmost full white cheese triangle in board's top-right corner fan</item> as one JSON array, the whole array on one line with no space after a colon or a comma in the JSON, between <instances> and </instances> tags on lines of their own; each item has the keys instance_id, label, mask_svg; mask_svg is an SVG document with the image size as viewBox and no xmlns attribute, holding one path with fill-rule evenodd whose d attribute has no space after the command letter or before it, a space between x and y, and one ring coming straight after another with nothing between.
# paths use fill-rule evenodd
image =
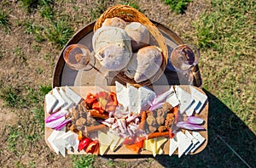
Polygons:
<instances>
[{"instance_id":1,"label":"leftmost full white cheese triangle in board's top-right corner fan","mask_svg":"<svg viewBox=\"0 0 256 168\"><path fill-rule=\"evenodd\" d=\"M184 91L181 87L176 87L177 99L180 102L180 113L183 114L186 109L194 102L194 98L189 92Z\"/></svg>"}]
</instances>

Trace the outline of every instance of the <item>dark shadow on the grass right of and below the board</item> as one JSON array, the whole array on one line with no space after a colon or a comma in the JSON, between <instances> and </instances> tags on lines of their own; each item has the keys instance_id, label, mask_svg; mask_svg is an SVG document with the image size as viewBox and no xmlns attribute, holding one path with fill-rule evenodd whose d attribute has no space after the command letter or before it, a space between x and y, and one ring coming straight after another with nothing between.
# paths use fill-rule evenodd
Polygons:
<instances>
[{"instance_id":1,"label":"dark shadow on the grass right of and below the board","mask_svg":"<svg viewBox=\"0 0 256 168\"><path fill-rule=\"evenodd\" d=\"M208 143L195 155L157 155L154 159L164 167L254 167L256 136L225 104L207 92ZM109 156L108 158L116 158ZM152 155L122 155L123 159L152 158Z\"/></svg>"}]
</instances>

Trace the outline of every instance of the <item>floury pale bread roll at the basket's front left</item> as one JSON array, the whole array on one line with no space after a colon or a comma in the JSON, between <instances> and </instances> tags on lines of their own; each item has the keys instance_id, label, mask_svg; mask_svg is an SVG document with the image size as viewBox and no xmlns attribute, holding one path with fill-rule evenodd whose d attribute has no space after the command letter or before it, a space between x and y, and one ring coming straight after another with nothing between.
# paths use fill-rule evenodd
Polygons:
<instances>
[{"instance_id":1,"label":"floury pale bread roll at the basket's front left","mask_svg":"<svg viewBox=\"0 0 256 168\"><path fill-rule=\"evenodd\" d=\"M131 59L131 52L117 43L111 43L99 49L95 57L110 71L122 70Z\"/></svg>"}]
</instances>

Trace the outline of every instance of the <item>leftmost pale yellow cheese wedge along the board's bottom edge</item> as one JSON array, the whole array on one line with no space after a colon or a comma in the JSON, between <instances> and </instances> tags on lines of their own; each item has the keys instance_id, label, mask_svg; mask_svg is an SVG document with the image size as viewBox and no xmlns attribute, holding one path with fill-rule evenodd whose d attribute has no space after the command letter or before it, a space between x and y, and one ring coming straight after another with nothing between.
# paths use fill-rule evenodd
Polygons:
<instances>
[{"instance_id":1,"label":"leftmost pale yellow cheese wedge along the board's bottom edge","mask_svg":"<svg viewBox=\"0 0 256 168\"><path fill-rule=\"evenodd\" d=\"M100 141L100 154L103 155L108 150L108 147L113 142L113 139L101 131L98 131L98 138Z\"/></svg>"}]
</instances>

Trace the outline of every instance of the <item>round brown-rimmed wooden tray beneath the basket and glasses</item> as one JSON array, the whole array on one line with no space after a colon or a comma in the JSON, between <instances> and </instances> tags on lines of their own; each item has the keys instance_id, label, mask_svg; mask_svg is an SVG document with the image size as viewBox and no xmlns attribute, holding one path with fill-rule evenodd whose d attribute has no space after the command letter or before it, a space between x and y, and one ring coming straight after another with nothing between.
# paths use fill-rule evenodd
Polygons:
<instances>
[{"instance_id":1,"label":"round brown-rimmed wooden tray beneath the basket and glasses","mask_svg":"<svg viewBox=\"0 0 256 168\"><path fill-rule=\"evenodd\" d=\"M177 45L183 44L183 40L177 36L177 34L169 29L166 26L161 25L160 23L151 20L154 25L160 30L162 35L165 37L166 45L168 49L168 55L170 56L172 53L172 49L176 48ZM76 32L73 37L67 42L66 46L62 49L61 54L59 55L59 59L57 64L55 65L55 71L53 76L52 87L61 87L61 86L74 86L74 87L83 87L83 86L108 86L114 85L114 81L119 81L115 73L110 73L108 76L102 76L101 73L98 73L96 70L72 70L67 66L63 59L63 51L64 49L74 43L81 43L92 51L92 43L91 39L93 36L93 28L95 22L92 22L88 25L85 25L80 31ZM97 62L95 64L96 68L101 70L101 65ZM103 71L103 70L102 70ZM201 73L196 65L192 69L192 73L194 76L195 87L201 87ZM170 61L166 66L166 70L164 74L160 77L158 81L153 83L154 85L184 85L185 83L181 83L179 77L177 76L177 72L172 67Z\"/></svg>"}]
</instances>

